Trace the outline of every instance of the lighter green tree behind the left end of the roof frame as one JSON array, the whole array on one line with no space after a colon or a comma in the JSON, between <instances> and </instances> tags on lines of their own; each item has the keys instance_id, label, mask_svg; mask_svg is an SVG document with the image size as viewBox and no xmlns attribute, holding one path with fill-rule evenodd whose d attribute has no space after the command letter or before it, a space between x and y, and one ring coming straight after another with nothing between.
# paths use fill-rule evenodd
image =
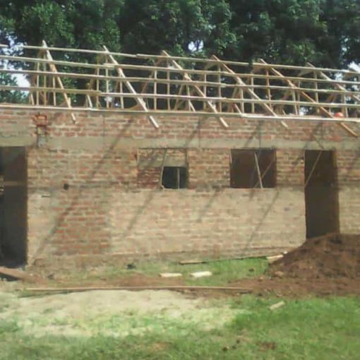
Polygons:
<instances>
[{"instance_id":1,"label":"lighter green tree behind the left end of the roof frame","mask_svg":"<svg viewBox=\"0 0 360 360\"><path fill-rule=\"evenodd\" d=\"M15 42L120 49L123 0L0 0L0 33ZM1 20L2 19L2 20Z\"/></svg>"}]
</instances>

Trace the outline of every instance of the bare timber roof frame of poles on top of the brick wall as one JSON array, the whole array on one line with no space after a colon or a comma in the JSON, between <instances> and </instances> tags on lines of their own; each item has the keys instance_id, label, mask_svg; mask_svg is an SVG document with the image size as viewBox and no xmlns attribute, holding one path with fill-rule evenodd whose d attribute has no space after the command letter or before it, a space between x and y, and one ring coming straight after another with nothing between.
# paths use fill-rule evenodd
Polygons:
<instances>
[{"instance_id":1,"label":"bare timber roof frame of poles on top of the brick wall","mask_svg":"<svg viewBox=\"0 0 360 360\"><path fill-rule=\"evenodd\" d=\"M1 92L20 90L28 104L0 103L0 109L55 109L145 114L155 128L156 116L201 114L227 128L227 118L287 121L334 121L357 136L348 123L360 122L360 73L306 66L249 65L239 61L102 50L20 47L14 56L0 44L0 73L22 75L28 86L1 85ZM74 55L88 62L72 61ZM19 65L20 64L20 65Z\"/></svg>"}]
</instances>

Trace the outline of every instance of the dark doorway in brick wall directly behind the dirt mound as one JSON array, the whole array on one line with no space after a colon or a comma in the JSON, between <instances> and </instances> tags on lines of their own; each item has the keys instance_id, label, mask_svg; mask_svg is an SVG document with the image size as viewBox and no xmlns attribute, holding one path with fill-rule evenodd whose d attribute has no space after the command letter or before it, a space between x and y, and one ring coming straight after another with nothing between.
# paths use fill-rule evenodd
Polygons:
<instances>
[{"instance_id":1,"label":"dark doorway in brick wall directly behind the dirt mound","mask_svg":"<svg viewBox=\"0 0 360 360\"><path fill-rule=\"evenodd\" d=\"M334 151L305 151L306 238L340 231Z\"/></svg>"}]
</instances>

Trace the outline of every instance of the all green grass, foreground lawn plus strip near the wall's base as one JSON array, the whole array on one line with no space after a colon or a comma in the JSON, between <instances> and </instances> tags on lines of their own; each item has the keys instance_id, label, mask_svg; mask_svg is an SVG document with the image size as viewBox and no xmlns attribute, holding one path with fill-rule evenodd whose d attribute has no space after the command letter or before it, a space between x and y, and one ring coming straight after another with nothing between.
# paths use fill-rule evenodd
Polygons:
<instances>
[{"instance_id":1,"label":"all green grass, foreground lawn plus strip near the wall's base","mask_svg":"<svg viewBox=\"0 0 360 360\"><path fill-rule=\"evenodd\" d=\"M99 276L116 280L134 272L157 276L159 272L174 271L184 273L186 284L224 285L241 277L263 274L266 268L263 259L185 266L157 262L138 264L135 270L107 267L101 275L78 273L77 280L86 282ZM190 277L190 272L199 270L210 270L214 275L202 279ZM224 297L201 300L200 306L177 318L169 316L167 311L123 312L111 316L101 312L80 320L54 321L49 320L52 310L44 309L30 315L27 326L23 325L21 316L12 313L6 316L11 308L11 296L4 294L0 300L0 360L350 360L359 359L360 354L360 299L350 296L283 299L284 306L275 311L269 306L281 299L273 296ZM106 296L106 292L101 296ZM50 298L42 299L47 302ZM16 305L13 307L16 311ZM196 317L197 321L191 320ZM226 320L207 328L208 322L217 324L214 320L219 318ZM49 335L49 326L68 327L77 332ZM39 328L44 331L37 331Z\"/></svg>"}]
</instances>

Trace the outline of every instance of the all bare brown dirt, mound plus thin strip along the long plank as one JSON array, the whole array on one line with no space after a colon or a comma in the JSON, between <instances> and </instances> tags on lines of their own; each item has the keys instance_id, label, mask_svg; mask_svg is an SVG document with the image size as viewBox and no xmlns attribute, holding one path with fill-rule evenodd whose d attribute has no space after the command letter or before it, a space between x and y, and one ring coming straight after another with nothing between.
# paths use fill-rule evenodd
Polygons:
<instances>
[{"instance_id":1,"label":"all bare brown dirt, mound plus thin strip along the long plank","mask_svg":"<svg viewBox=\"0 0 360 360\"><path fill-rule=\"evenodd\" d=\"M43 284L42 284L43 285ZM109 280L95 277L81 281L70 277L56 278L49 287L184 285L181 278L162 279L135 273ZM302 246L272 263L268 272L257 278L246 278L222 286L250 289L253 294L303 297L308 295L360 296L360 234L328 234L308 239ZM186 292L186 291L185 291ZM192 296L224 296L221 292L186 292ZM190 294L189 294L190 295Z\"/></svg>"}]
</instances>

